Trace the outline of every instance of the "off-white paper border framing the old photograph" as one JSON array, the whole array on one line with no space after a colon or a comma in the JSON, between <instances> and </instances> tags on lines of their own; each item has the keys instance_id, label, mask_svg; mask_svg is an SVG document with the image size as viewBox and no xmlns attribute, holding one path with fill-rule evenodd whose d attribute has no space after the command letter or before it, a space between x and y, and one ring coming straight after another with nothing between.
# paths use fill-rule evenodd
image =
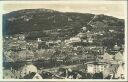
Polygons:
<instances>
[{"instance_id":1,"label":"off-white paper border framing the old photograph","mask_svg":"<svg viewBox=\"0 0 128 82\"><path fill-rule=\"evenodd\" d=\"M53 3L56 3L56 4L59 4L59 3L71 3L71 4L85 4L85 3L88 3L88 4L95 4L95 3L98 3L98 4L124 4L125 5L125 54L126 54L126 57L125 57L125 61L127 62L127 2L126 1L116 1L116 3L114 3L115 1L98 1L98 0L94 0L94 1L1 1L0 3L0 12L1 13L4 13L3 11L3 5L4 4L14 4L14 3L20 3L20 4L40 4L40 3L47 3L47 4L53 4ZM0 14L0 61L2 61L2 14ZM127 62L128 63L128 62ZM126 67L127 67L127 64L125 64ZM0 62L0 80L1 81L127 81L128 80L128 71L127 69L125 70L126 71L126 78L124 80L120 80L120 79L117 79L117 80L106 80L106 79L101 79L101 80L94 80L94 79L40 79L40 80L35 80L35 79L2 79L2 62Z\"/></svg>"}]
</instances>

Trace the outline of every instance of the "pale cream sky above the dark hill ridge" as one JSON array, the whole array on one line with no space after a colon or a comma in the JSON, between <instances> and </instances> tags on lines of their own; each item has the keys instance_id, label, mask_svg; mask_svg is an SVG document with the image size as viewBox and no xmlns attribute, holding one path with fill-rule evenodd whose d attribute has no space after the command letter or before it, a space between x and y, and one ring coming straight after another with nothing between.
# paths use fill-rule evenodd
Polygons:
<instances>
[{"instance_id":1,"label":"pale cream sky above the dark hill ridge","mask_svg":"<svg viewBox=\"0 0 128 82\"><path fill-rule=\"evenodd\" d=\"M40 1L40 2L8 2L4 3L3 11L8 13L21 9L54 9L61 12L79 12L105 14L117 18L125 18L123 1Z\"/></svg>"}]
</instances>

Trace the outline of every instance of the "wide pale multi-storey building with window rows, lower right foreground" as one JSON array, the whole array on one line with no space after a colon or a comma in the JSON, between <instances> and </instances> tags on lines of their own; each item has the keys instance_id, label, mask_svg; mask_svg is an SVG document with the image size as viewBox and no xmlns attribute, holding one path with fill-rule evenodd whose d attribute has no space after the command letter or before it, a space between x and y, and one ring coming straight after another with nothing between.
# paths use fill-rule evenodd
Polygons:
<instances>
[{"instance_id":1,"label":"wide pale multi-storey building with window rows, lower right foreground","mask_svg":"<svg viewBox=\"0 0 128 82\"><path fill-rule=\"evenodd\" d=\"M105 67L102 62L89 62L86 66L87 72L92 74L103 72Z\"/></svg>"}]
</instances>

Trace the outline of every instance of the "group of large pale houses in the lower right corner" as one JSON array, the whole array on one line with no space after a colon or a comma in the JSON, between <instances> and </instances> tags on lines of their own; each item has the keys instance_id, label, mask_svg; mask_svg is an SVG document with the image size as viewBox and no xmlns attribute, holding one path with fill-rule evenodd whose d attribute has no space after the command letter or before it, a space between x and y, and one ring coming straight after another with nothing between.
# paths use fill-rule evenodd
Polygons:
<instances>
[{"instance_id":1,"label":"group of large pale houses in the lower right corner","mask_svg":"<svg viewBox=\"0 0 128 82\"><path fill-rule=\"evenodd\" d=\"M87 63L88 73L99 73L102 72L104 78L111 76L112 78L124 79L125 68L124 68L124 54L117 52L115 55L104 53L103 60L96 63Z\"/></svg>"}]
</instances>

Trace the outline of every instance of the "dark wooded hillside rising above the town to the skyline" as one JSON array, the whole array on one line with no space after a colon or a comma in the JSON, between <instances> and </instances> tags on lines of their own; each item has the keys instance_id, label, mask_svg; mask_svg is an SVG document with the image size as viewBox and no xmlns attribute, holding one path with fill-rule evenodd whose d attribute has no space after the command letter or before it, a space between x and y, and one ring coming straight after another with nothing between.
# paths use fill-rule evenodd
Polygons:
<instances>
[{"instance_id":1,"label":"dark wooded hillside rising above the town to the skyline","mask_svg":"<svg viewBox=\"0 0 128 82\"><path fill-rule=\"evenodd\" d=\"M86 31L81 30L83 27ZM26 40L44 37L65 40L88 30L96 34L93 38L97 44L124 43L124 20L112 16L50 9L25 9L3 15L3 35L24 33Z\"/></svg>"}]
</instances>

